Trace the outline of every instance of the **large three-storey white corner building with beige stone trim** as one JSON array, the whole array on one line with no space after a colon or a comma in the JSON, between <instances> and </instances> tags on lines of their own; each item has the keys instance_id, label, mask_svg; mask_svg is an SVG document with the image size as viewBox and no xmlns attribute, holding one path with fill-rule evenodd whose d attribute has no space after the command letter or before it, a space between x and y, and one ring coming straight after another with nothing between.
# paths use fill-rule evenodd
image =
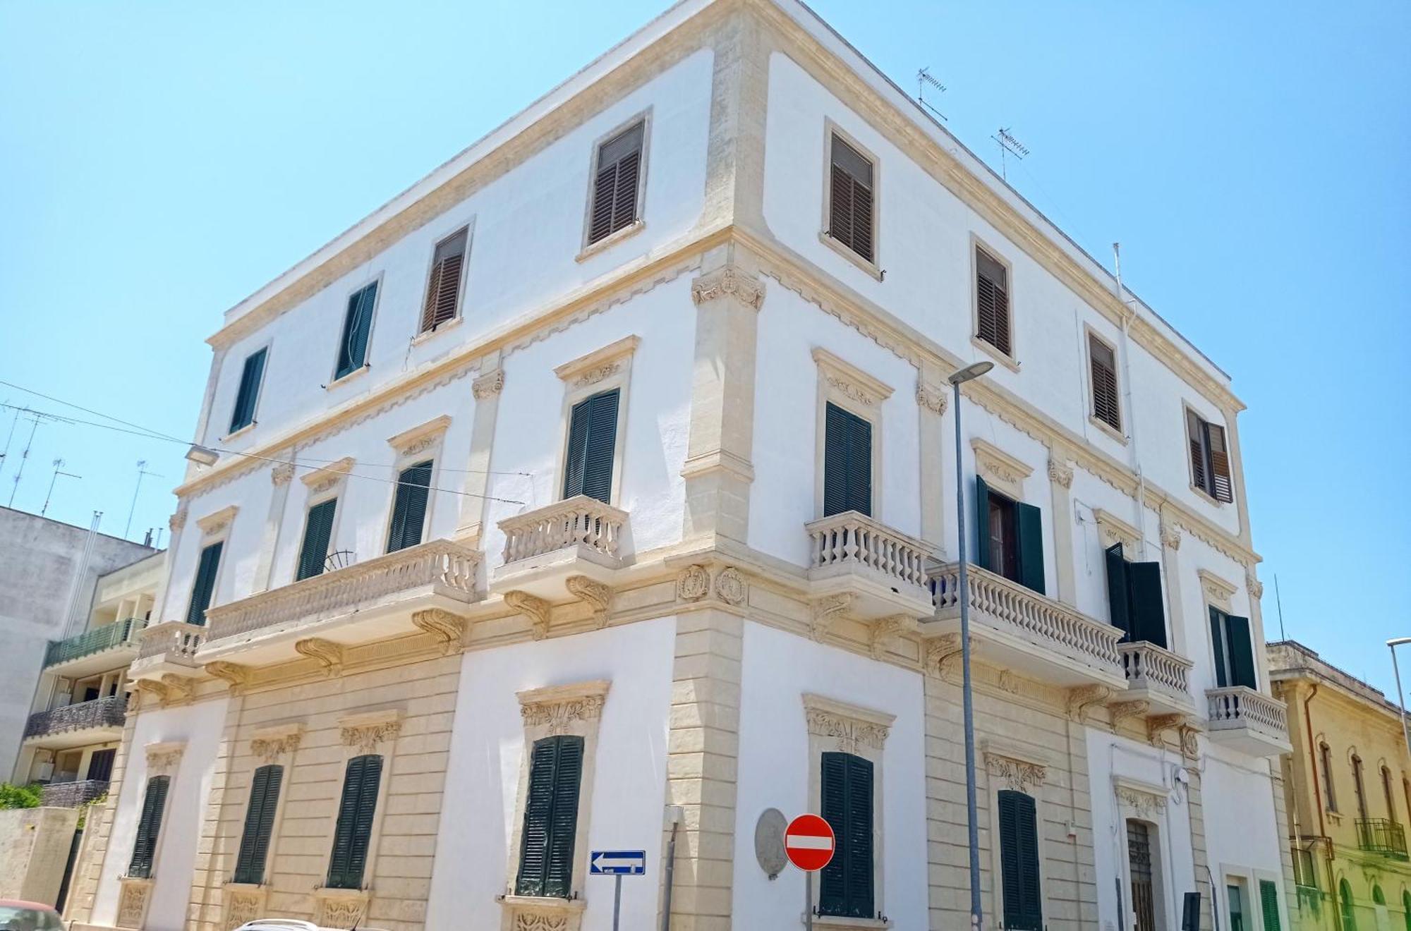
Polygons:
<instances>
[{"instance_id":1,"label":"large three-storey white corner building with beige stone trim","mask_svg":"<svg viewBox=\"0 0 1411 931\"><path fill-rule=\"evenodd\" d=\"M957 475L988 927L1287 927L1229 378L794 0L673 7L210 343L75 928L601 931L632 848L624 928L800 927L768 808L837 827L820 927L965 927Z\"/></svg>"}]
</instances>

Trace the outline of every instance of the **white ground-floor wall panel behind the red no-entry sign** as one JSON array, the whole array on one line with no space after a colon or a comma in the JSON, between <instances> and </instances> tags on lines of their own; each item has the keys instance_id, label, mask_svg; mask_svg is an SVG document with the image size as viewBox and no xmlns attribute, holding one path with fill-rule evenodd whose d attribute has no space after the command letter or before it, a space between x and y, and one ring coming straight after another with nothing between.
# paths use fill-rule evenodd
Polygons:
<instances>
[{"instance_id":1,"label":"white ground-floor wall panel behind the red no-entry sign","mask_svg":"<svg viewBox=\"0 0 1411 931\"><path fill-rule=\"evenodd\" d=\"M735 927L793 928L804 911L803 873L790 866L770 882L755 858L755 822L763 810L792 818L809 808L804 693L896 715L875 796L883 865L876 906L895 928L927 927L921 677L746 621L739 693Z\"/></svg>"}]
</instances>

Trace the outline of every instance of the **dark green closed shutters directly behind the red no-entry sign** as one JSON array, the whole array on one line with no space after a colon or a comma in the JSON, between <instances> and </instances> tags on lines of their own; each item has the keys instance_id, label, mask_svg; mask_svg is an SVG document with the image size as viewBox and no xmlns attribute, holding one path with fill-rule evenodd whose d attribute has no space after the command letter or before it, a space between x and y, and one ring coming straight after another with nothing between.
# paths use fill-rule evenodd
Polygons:
<instances>
[{"instance_id":1,"label":"dark green closed shutters directly behind the red no-entry sign","mask_svg":"<svg viewBox=\"0 0 1411 931\"><path fill-rule=\"evenodd\" d=\"M872 893L872 763L851 753L824 753L823 818L832 828L832 859L823 868L818 913L875 918Z\"/></svg>"}]
</instances>

